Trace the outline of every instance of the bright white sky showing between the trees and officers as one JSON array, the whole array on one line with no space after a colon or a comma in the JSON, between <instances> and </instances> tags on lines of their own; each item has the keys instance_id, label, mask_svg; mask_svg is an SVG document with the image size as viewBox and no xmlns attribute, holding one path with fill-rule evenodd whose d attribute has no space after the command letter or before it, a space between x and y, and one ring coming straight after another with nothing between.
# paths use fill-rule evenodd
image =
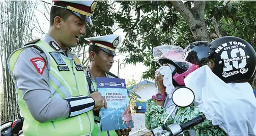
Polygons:
<instances>
[{"instance_id":1,"label":"bright white sky showing between the trees and officers","mask_svg":"<svg viewBox=\"0 0 256 136\"><path fill-rule=\"evenodd\" d=\"M49 28L49 22L41 12L43 13L43 4L39 3L39 6L35 10L35 17L38 19L38 22L39 22L39 25L40 25L41 29L45 33L47 33L48 28ZM49 16L47 16L47 18L49 19ZM36 23L35 26L37 28L39 28L37 23ZM32 34L33 34L32 36L38 37L38 38L42 38L44 36L44 34L41 34L41 33L37 32L36 29L34 29ZM125 38L125 33L123 32L122 29L118 29L113 34L119 34L122 38L122 41ZM116 51L116 52L118 52L118 51ZM118 66L118 60L120 61L120 63L122 63L125 60L127 55L128 55L128 53L117 54L117 56L114 57L115 62L113 63L112 68L110 69L111 73L113 73L115 75L118 75L118 67L119 67ZM2 65L2 64L0 64L0 65ZM134 77L134 79L137 83L140 81L140 78L141 78L141 75L143 74L143 72L148 69L148 67L144 66L143 63L139 63L139 64L136 64L136 65L133 65L133 64L123 65L122 64L121 68L119 68L119 77L120 78L124 78L126 80L132 80L132 77ZM1 81L2 81L2 66L0 67L0 76L1 76ZM150 81L152 81L152 80L150 80Z\"/></svg>"}]
</instances>

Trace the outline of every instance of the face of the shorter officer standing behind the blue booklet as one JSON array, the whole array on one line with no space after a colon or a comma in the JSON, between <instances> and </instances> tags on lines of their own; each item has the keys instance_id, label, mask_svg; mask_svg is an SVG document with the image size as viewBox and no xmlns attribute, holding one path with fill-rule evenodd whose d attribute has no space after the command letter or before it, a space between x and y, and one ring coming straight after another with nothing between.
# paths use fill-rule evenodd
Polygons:
<instances>
[{"instance_id":1,"label":"face of the shorter officer standing behind the blue booklet","mask_svg":"<svg viewBox=\"0 0 256 136\"><path fill-rule=\"evenodd\" d=\"M98 54L95 55L95 64L103 72L109 72L114 62L113 58L113 55L101 50Z\"/></svg>"}]
</instances>

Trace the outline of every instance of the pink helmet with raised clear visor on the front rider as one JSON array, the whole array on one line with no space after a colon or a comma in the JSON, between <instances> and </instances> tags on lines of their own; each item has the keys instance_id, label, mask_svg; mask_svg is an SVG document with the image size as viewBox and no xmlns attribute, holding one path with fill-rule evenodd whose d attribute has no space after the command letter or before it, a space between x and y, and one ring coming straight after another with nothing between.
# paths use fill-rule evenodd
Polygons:
<instances>
[{"instance_id":1,"label":"pink helmet with raised clear visor on the front rider","mask_svg":"<svg viewBox=\"0 0 256 136\"><path fill-rule=\"evenodd\" d=\"M170 50L167 54L162 55L158 62L163 65L163 63L173 64L176 69L173 71L173 84L175 86L183 86L184 78L194 70L198 68L198 65L191 64L182 58L182 50Z\"/></svg>"}]
</instances>

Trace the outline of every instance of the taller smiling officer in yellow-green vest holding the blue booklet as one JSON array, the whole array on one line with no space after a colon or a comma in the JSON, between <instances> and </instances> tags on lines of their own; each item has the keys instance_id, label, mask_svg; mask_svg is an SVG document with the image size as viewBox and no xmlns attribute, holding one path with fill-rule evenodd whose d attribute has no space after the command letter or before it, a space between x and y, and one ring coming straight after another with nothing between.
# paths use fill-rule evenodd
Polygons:
<instances>
[{"instance_id":1,"label":"taller smiling officer in yellow-green vest holding the blue booklet","mask_svg":"<svg viewBox=\"0 0 256 136\"><path fill-rule=\"evenodd\" d=\"M100 93L90 94L81 62L70 50L95 7L94 1L54 1L44 38L9 56L24 135L91 135L93 110L107 108Z\"/></svg>"}]
</instances>

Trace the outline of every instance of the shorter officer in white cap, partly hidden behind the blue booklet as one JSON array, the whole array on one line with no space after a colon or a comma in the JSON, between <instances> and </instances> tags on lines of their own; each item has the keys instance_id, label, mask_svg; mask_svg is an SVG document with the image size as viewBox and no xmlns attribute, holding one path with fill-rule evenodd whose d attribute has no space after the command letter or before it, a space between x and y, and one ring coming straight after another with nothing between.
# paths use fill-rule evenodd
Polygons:
<instances>
[{"instance_id":1,"label":"shorter officer in white cap, partly hidden behind the blue booklet","mask_svg":"<svg viewBox=\"0 0 256 136\"><path fill-rule=\"evenodd\" d=\"M85 38L90 42L89 57L90 66L86 68L87 81L90 93L97 92L95 77L118 78L109 72L116 56L116 48L121 43L121 37L117 34ZM92 135L129 135L131 127L115 131L100 131L99 111L94 111L95 127ZM98 129L97 129L98 128Z\"/></svg>"}]
</instances>

